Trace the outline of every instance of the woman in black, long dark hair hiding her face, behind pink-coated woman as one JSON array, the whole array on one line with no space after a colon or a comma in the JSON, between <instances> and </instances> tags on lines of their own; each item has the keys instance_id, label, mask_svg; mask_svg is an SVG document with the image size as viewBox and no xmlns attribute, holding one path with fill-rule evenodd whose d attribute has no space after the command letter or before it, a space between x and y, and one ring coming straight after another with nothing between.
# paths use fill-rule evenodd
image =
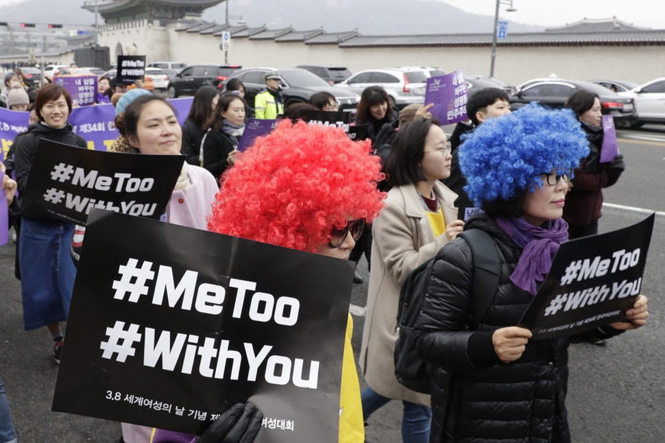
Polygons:
<instances>
[{"instance_id":1,"label":"woman in black, long dark hair hiding her face, behind pink-coated woman","mask_svg":"<svg viewBox=\"0 0 665 443\"><path fill-rule=\"evenodd\" d=\"M218 102L219 92L213 86L202 86L194 94L189 115L182 124L182 147L180 148L180 154L187 156L186 160L190 165L201 166L199 158L201 142Z\"/></svg>"}]
</instances>

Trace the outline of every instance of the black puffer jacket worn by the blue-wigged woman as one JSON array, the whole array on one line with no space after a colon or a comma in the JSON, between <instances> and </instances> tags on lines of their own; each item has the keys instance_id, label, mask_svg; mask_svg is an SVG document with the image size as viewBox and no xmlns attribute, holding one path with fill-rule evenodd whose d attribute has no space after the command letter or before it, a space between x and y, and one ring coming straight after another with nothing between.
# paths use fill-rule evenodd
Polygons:
<instances>
[{"instance_id":1,"label":"black puffer jacket worn by the blue-wigged woman","mask_svg":"<svg viewBox=\"0 0 665 443\"><path fill-rule=\"evenodd\" d=\"M489 232L501 275L478 330L469 331L470 247L456 239L437 256L415 326L418 352L432 365L431 442L570 442L564 405L568 339L530 341L517 361L498 359L492 333L518 324L532 298L509 279L522 249L485 214L470 219L465 228ZM590 334L613 335L601 329Z\"/></svg>"}]
</instances>

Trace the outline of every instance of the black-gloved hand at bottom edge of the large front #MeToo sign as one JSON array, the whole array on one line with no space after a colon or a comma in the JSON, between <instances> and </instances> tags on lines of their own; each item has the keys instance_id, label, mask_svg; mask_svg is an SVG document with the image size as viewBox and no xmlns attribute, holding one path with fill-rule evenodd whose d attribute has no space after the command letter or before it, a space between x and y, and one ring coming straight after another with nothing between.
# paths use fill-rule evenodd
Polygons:
<instances>
[{"instance_id":1,"label":"black-gloved hand at bottom edge of the large front #MeToo sign","mask_svg":"<svg viewBox=\"0 0 665 443\"><path fill-rule=\"evenodd\" d=\"M252 443L261 429L263 412L254 403L238 403L210 425L196 443Z\"/></svg>"}]
</instances>

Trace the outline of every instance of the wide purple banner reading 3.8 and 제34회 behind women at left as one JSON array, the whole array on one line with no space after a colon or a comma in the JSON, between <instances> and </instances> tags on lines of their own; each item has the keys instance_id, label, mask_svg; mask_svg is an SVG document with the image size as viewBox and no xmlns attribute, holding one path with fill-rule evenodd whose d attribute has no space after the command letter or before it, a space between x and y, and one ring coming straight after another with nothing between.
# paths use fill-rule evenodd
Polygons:
<instances>
[{"instance_id":1,"label":"wide purple banner reading 3.8 and \uc81c34\ud68c behind women at left","mask_svg":"<svg viewBox=\"0 0 665 443\"><path fill-rule=\"evenodd\" d=\"M192 101L193 97L169 99L169 103L173 105L173 108L176 108L180 125L187 118ZM16 134L27 130L28 119L28 112L16 112L0 108L0 142L2 143L3 158L7 155ZM114 119L115 108L113 105L101 104L73 108L68 121L73 125L74 132L86 139L88 149L106 151L118 138L118 130L113 123Z\"/></svg>"}]
</instances>

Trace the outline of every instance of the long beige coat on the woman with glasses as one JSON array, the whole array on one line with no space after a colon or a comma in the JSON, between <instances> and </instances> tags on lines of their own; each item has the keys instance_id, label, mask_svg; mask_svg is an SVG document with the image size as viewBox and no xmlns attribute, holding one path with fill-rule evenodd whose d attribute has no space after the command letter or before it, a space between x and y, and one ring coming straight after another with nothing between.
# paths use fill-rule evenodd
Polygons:
<instances>
[{"instance_id":1,"label":"long beige coat on the woman with glasses","mask_svg":"<svg viewBox=\"0 0 665 443\"><path fill-rule=\"evenodd\" d=\"M453 206L457 194L440 182L433 191L443 208L446 225L457 219ZM428 395L408 390L395 376L397 309L404 276L435 256L448 239L446 235L434 237L413 184L389 191L386 207L374 221L372 234L372 269L360 353L361 370L367 385L378 394L429 406Z\"/></svg>"}]
</instances>

